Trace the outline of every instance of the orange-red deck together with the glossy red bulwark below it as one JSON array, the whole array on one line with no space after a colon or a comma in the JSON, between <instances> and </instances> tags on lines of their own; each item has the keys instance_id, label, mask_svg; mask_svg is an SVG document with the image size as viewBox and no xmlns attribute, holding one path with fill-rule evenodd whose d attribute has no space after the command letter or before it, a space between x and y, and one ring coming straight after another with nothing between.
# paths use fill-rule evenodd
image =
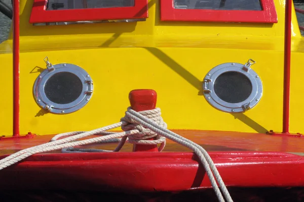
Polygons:
<instances>
[{"instance_id":1,"label":"orange-red deck together with the glossy red bulwark below it","mask_svg":"<svg viewBox=\"0 0 304 202\"><path fill-rule=\"evenodd\" d=\"M174 132L202 145L229 187L304 186L304 138L219 131ZM2 139L0 154L14 153L47 142L51 137L36 136L31 141ZM112 149L115 146L116 143L106 143L84 147ZM2 170L0 188L36 190L42 188L42 183L43 190L69 191L182 191L211 187L197 157L177 143L168 140L163 153L126 152L131 150L132 144L126 143L119 153L54 151L33 155Z\"/></svg>"}]
</instances>

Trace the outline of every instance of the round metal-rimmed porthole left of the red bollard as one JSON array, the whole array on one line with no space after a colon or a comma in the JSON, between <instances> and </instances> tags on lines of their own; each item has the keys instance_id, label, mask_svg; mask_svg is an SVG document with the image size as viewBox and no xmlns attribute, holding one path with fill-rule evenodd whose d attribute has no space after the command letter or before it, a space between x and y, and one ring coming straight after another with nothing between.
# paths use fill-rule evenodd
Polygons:
<instances>
[{"instance_id":1,"label":"round metal-rimmed porthole left of the red bollard","mask_svg":"<svg viewBox=\"0 0 304 202\"><path fill-rule=\"evenodd\" d=\"M54 114L67 114L83 108L93 94L93 80L81 67L73 64L52 65L36 79L33 93L37 104Z\"/></svg>"}]
</instances>

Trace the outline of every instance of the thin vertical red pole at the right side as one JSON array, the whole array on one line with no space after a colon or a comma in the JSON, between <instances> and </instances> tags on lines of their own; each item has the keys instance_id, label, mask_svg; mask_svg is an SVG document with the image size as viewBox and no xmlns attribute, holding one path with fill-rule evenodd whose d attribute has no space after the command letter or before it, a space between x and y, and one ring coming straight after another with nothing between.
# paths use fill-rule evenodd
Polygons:
<instances>
[{"instance_id":1,"label":"thin vertical red pole at the right side","mask_svg":"<svg viewBox=\"0 0 304 202\"><path fill-rule=\"evenodd\" d=\"M290 56L291 56L291 14L292 0L285 3L285 46L284 46L284 95L283 95L283 132L289 133L290 107Z\"/></svg>"}]
</instances>

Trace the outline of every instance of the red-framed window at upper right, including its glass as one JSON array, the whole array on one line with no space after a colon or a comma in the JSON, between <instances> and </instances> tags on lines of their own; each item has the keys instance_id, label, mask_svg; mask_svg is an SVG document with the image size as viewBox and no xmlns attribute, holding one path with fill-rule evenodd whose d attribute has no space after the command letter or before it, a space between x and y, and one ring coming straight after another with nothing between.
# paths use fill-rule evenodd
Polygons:
<instances>
[{"instance_id":1,"label":"red-framed window at upper right, including its glass","mask_svg":"<svg viewBox=\"0 0 304 202\"><path fill-rule=\"evenodd\" d=\"M278 22L273 0L161 0L161 20Z\"/></svg>"}]
</instances>

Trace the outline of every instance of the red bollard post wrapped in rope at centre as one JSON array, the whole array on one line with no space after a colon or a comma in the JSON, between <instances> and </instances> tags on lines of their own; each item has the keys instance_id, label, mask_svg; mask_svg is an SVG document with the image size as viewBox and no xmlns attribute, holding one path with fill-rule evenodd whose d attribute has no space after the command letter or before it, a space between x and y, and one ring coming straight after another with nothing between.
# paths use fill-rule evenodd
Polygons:
<instances>
[{"instance_id":1,"label":"red bollard post wrapped in rope at centre","mask_svg":"<svg viewBox=\"0 0 304 202\"><path fill-rule=\"evenodd\" d=\"M132 110L136 112L154 110L156 107L157 93L155 90L138 89L129 93ZM148 140L154 140L150 138ZM134 144L133 151L158 151L157 145Z\"/></svg>"}]
</instances>

